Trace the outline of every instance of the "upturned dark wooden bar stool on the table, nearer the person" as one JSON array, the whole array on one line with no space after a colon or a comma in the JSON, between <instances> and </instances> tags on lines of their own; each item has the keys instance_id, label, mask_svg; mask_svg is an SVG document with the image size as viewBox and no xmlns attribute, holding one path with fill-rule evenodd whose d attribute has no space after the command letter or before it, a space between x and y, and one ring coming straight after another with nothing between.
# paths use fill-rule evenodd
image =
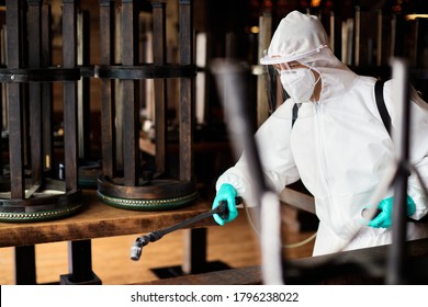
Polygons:
<instances>
[{"instance_id":1,"label":"upturned dark wooden bar stool on the table, nearer the person","mask_svg":"<svg viewBox=\"0 0 428 307\"><path fill-rule=\"evenodd\" d=\"M150 1L153 14L153 62L139 62L139 2L122 0L122 64L114 62L115 1L100 1L102 174L98 195L120 208L171 209L198 197L192 175L193 65L192 1L179 0L179 62L167 62L166 1ZM115 32L116 31L116 32ZM116 42L117 43L117 42ZM154 80L155 167L147 169L139 152L139 81ZM168 166L167 80L178 79L178 174ZM120 87L115 87L116 84ZM115 90L120 89L120 95ZM120 99L116 99L116 98ZM119 149L119 150L117 150ZM172 154L173 155L173 154ZM121 166L121 161L123 164Z\"/></svg>"}]
</instances>

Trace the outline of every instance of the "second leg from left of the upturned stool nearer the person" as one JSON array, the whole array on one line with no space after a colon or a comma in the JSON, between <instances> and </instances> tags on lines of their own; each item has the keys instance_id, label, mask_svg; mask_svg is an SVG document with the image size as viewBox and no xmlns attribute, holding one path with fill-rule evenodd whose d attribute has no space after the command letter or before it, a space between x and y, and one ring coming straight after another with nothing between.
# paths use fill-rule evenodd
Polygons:
<instances>
[{"instance_id":1,"label":"second leg from left of the upturned stool nearer the person","mask_svg":"<svg viewBox=\"0 0 428 307\"><path fill-rule=\"evenodd\" d=\"M136 64L138 43L136 39L138 10L134 0L122 0L122 33L123 33L123 59L124 66ZM124 184L138 185L138 82L123 80L123 147L126 159L124 166Z\"/></svg>"}]
</instances>

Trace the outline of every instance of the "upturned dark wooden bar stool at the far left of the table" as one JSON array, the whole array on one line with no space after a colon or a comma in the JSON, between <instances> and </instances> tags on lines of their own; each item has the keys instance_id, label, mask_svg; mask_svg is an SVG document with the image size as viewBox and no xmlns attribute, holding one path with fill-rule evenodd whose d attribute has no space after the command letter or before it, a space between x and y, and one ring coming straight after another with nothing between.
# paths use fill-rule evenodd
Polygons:
<instances>
[{"instance_id":1,"label":"upturned dark wooden bar stool at the far left of the table","mask_svg":"<svg viewBox=\"0 0 428 307\"><path fill-rule=\"evenodd\" d=\"M2 157L1 221L61 218L81 206L78 186L76 2L63 1L63 66L50 66L50 5L42 0L5 1L7 128ZM52 126L52 83L64 84L64 178L58 177ZM2 152L5 150L2 150ZM8 159L9 157L9 159Z\"/></svg>"}]
</instances>

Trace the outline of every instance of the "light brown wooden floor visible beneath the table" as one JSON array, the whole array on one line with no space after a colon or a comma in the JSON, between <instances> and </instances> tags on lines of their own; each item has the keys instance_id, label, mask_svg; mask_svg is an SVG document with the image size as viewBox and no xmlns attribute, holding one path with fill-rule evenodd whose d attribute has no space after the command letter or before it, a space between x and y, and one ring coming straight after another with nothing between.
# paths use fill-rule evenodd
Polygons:
<instances>
[{"instance_id":1,"label":"light brown wooden floor visible beneath the table","mask_svg":"<svg viewBox=\"0 0 428 307\"><path fill-rule=\"evenodd\" d=\"M284 243L309 237L313 231L297 232L284 227ZM140 234L143 235L143 234ZM183 258L183 232L178 230L148 245L139 261L129 260L129 248L135 236L110 237L92 240L92 268L105 285L135 284L157 280L153 269L180 265ZM290 259L308 257L313 241L288 249ZM68 273L67 242L36 246L37 283L55 283ZM207 230L207 261L221 261L232 268L260 264L258 237L248 224L245 212L236 221ZM13 248L0 248L0 284L14 284Z\"/></svg>"}]
</instances>

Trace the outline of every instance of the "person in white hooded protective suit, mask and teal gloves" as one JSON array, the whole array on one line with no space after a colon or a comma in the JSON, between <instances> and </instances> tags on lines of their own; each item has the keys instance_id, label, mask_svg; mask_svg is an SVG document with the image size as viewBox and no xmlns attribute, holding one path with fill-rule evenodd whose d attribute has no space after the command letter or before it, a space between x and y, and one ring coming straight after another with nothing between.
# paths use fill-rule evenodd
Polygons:
<instances>
[{"instance_id":1,"label":"person in white hooded protective suit, mask and teal gloves","mask_svg":"<svg viewBox=\"0 0 428 307\"><path fill-rule=\"evenodd\" d=\"M256 133L266 181L280 193L301 179L314 195L319 226L313 254L391 243L391 185L379 198L380 214L361 221L362 211L372 206L370 198L394 161L393 140L375 103L376 79L358 76L337 59L319 20L297 11L282 19L260 61L277 68L291 96ZM401 114L394 105L393 82L385 82L383 95L394 132ZM299 114L291 125L294 104ZM414 89L410 104L409 159L428 183L428 106ZM245 155L218 178L216 190L213 207L226 200L229 208L228 219L214 216L219 225L237 216L235 196L251 206ZM428 212L428 200L414 172L407 194L407 237L428 237L428 224L418 221Z\"/></svg>"}]
</instances>

